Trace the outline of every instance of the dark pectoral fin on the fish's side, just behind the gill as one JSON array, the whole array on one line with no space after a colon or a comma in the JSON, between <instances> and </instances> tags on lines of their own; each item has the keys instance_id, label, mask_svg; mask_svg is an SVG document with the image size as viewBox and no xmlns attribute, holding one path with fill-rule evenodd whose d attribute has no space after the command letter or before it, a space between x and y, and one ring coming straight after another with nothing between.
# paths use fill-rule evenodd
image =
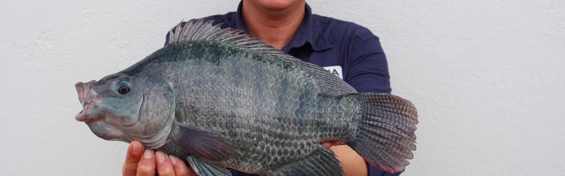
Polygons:
<instances>
[{"instance_id":1,"label":"dark pectoral fin on the fish's side, just behind the gill","mask_svg":"<svg viewBox=\"0 0 565 176\"><path fill-rule=\"evenodd\" d=\"M181 124L178 121L175 121L174 126L173 140L197 157L221 161L242 156L237 146L214 131L198 129L194 126Z\"/></svg>"}]
</instances>

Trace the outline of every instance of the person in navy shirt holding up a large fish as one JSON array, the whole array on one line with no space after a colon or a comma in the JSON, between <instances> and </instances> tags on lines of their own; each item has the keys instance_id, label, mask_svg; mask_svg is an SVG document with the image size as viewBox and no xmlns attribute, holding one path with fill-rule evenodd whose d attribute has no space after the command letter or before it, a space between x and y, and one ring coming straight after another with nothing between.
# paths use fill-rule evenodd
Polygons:
<instances>
[{"instance_id":1,"label":"person in navy shirt holding up a large fish","mask_svg":"<svg viewBox=\"0 0 565 176\"><path fill-rule=\"evenodd\" d=\"M314 15L305 0L243 0L236 12L204 18L221 28L244 30L298 59L324 67L359 93L390 93L388 66L379 38L357 24ZM191 22L192 23L192 22ZM183 24L186 25L186 24ZM169 43L169 36L167 42ZM338 156L347 176L399 175L367 163L338 141L321 143ZM333 147L332 147L333 146ZM196 175L175 156L132 141L123 175ZM232 169L232 175L254 175Z\"/></svg>"}]
</instances>

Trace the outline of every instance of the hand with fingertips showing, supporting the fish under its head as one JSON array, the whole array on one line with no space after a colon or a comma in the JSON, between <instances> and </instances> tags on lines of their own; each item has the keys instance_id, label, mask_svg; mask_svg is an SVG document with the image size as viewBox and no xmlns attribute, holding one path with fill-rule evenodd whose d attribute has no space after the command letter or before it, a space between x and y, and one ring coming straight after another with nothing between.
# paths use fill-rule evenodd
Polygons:
<instances>
[{"instance_id":1,"label":"hand with fingertips showing, supporting the fish under its head","mask_svg":"<svg viewBox=\"0 0 565 176\"><path fill-rule=\"evenodd\" d=\"M161 176L196 176L194 170L188 168L181 159L169 156L162 151L145 149L145 146L133 140L125 155L121 173L124 176L133 175L161 175Z\"/></svg>"}]
</instances>

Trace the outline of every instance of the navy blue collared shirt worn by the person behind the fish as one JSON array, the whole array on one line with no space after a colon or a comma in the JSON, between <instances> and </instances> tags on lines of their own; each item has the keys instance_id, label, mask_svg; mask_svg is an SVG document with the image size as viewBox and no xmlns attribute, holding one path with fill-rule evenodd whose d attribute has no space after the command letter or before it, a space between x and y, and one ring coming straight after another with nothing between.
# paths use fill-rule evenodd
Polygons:
<instances>
[{"instance_id":1,"label":"navy blue collared shirt worn by the person behind the fish","mask_svg":"<svg viewBox=\"0 0 565 176\"><path fill-rule=\"evenodd\" d=\"M247 33L241 19L242 3L236 12L208 16L205 21L215 20L214 24L224 23L221 28L240 29ZM168 41L165 42L167 44ZM390 94L388 65L379 38L360 25L314 15L310 6L306 5L305 16L294 38L281 51L328 69L360 93ZM367 168L370 176L400 175L386 173L371 164L367 164ZM232 175L256 174L232 169Z\"/></svg>"}]
</instances>

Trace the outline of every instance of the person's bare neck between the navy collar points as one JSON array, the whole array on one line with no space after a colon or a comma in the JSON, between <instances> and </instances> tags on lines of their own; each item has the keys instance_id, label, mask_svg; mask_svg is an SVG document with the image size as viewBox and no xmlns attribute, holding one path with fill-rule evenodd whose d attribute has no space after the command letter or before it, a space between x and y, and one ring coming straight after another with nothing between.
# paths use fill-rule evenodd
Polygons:
<instances>
[{"instance_id":1,"label":"person's bare neck between the navy collar points","mask_svg":"<svg viewBox=\"0 0 565 176\"><path fill-rule=\"evenodd\" d=\"M252 3L244 3L241 13L251 36L279 50L294 37L304 15L304 3L282 10L266 10Z\"/></svg>"}]
</instances>

